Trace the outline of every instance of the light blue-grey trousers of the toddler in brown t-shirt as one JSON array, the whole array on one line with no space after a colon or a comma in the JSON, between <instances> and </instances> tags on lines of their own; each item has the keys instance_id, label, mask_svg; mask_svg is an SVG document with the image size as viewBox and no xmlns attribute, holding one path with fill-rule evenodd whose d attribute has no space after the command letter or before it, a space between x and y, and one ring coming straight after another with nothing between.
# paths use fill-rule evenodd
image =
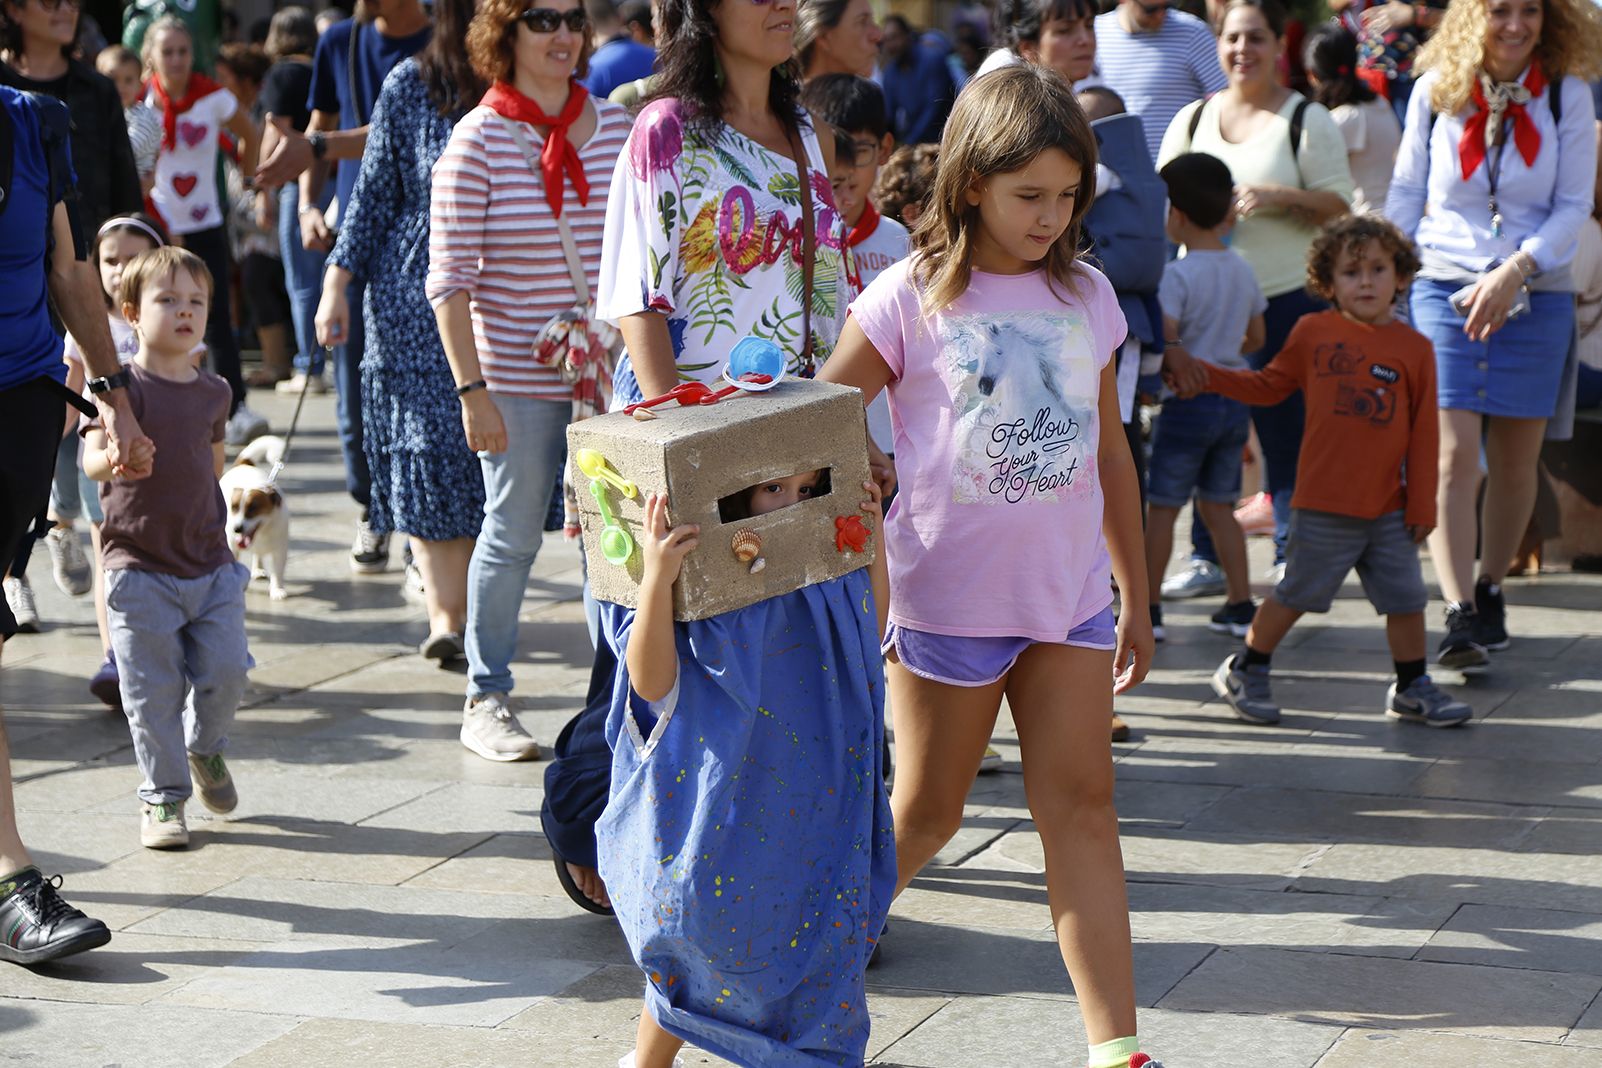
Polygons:
<instances>
[{"instance_id":1,"label":"light blue-grey trousers of the toddler in brown t-shirt","mask_svg":"<svg viewBox=\"0 0 1602 1068\"><path fill-rule=\"evenodd\" d=\"M106 621L146 804L186 801L186 751L215 756L227 745L255 666L245 640L247 583L244 564L199 578L106 572Z\"/></svg>"}]
</instances>

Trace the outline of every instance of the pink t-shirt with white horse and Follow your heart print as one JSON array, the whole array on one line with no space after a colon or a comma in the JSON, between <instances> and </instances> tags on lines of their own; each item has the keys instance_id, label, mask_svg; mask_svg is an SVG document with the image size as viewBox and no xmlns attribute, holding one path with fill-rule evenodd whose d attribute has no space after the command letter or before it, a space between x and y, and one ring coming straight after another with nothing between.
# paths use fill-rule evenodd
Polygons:
<instances>
[{"instance_id":1,"label":"pink t-shirt with white horse and Follow your heart print","mask_svg":"<svg viewBox=\"0 0 1602 1068\"><path fill-rule=\"evenodd\" d=\"M851 315L892 375L891 621L1061 642L1112 600L1096 466L1101 371L1126 333L1112 285L1088 266L1070 287L976 271L924 315L904 259Z\"/></svg>"}]
</instances>

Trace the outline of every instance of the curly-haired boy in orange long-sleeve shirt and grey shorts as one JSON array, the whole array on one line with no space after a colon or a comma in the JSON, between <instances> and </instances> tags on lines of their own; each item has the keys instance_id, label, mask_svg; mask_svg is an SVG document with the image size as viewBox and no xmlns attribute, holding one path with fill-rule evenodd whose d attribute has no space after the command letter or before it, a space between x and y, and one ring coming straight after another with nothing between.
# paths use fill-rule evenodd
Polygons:
<instances>
[{"instance_id":1,"label":"curly-haired boy in orange long-sleeve shirt and grey shorts","mask_svg":"<svg viewBox=\"0 0 1602 1068\"><path fill-rule=\"evenodd\" d=\"M1235 714L1277 724L1269 689L1274 650L1306 612L1328 612L1347 572L1386 616L1397 681L1386 713L1431 727L1472 716L1424 673L1429 592L1418 546L1435 525L1435 354L1424 335L1397 322L1397 296L1418 258L1378 216L1346 216L1309 251L1307 283L1334 307L1304 315L1261 371L1169 360L1181 392L1219 392L1277 404L1296 389L1307 429L1291 500L1285 578L1258 608L1246 644L1219 664L1213 689Z\"/></svg>"}]
</instances>

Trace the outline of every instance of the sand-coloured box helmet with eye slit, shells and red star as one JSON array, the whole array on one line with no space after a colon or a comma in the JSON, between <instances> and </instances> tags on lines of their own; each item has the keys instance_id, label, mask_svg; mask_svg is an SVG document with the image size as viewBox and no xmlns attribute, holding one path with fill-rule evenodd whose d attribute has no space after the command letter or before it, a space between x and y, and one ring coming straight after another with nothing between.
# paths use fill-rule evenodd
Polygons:
<instances>
[{"instance_id":1,"label":"sand-coloured box helmet with eye slit, shells and red star","mask_svg":"<svg viewBox=\"0 0 1602 1068\"><path fill-rule=\"evenodd\" d=\"M673 586L676 620L734 612L873 560L879 532L862 516L868 453L860 391L785 378L766 392L654 412L644 421L615 412L567 428L598 599L639 605L649 493L668 495L670 524L700 525L700 544ZM820 469L828 490L790 508L727 520L719 509L753 485Z\"/></svg>"}]
</instances>

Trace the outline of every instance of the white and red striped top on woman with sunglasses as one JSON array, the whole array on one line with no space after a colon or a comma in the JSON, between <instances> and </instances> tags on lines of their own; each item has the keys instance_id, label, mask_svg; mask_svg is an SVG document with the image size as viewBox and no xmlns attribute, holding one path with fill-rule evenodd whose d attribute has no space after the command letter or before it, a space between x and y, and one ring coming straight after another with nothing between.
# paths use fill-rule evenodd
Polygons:
<instances>
[{"instance_id":1,"label":"white and red striped top on woman with sunglasses","mask_svg":"<svg viewBox=\"0 0 1602 1068\"><path fill-rule=\"evenodd\" d=\"M567 186L562 215L594 293L612 170L634 120L617 104L591 102L596 131L578 149L590 178L590 203L580 205ZM572 386L553 368L533 362L533 341L551 315L577 304L578 296L556 216L545 202L545 184L529 170L505 122L489 107L474 107L457 123L434 163L428 301L437 307L457 291L471 298L473 338L490 389L567 400ZM543 139L532 126L527 131L538 152Z\"/></svg>"}]
</instances>

